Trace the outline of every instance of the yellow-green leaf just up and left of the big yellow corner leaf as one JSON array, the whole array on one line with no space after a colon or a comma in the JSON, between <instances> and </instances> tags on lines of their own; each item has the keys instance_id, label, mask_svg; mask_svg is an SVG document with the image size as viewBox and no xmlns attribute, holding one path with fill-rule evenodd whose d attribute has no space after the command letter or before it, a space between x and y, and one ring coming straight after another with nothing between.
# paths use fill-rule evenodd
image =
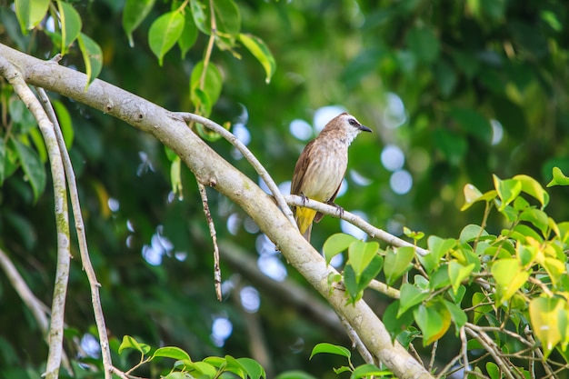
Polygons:
<instances>
[{"instance_id":1,"label":"yellow-green leaf just up and left of the big yellow corner leaf","mask_svg":"<svg viewBox=\"0 0 569 379\"><path fill-rule=\"evenodd\" d=\"M517 259L501 259L492 264L490 273L496 281L496 296L499 303L508 301L525 284L530 273L524 270Z\"/></svg>"}]
</instances>

